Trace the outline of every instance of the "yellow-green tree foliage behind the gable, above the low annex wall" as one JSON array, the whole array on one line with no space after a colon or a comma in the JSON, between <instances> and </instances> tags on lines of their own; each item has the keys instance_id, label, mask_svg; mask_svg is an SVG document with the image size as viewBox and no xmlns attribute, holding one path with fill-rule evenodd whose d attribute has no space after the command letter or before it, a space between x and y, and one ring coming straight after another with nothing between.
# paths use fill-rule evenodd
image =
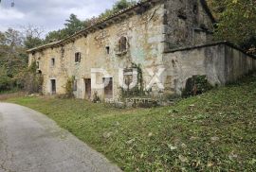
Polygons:
<instances>
[{"instance_id":1,"label":"yellow-green tree foliage behind the gable, above the low annex wall","mask_svg":"<svg viewBox=\"0 0 256 172\"><path fill-rule=\"evenodd\" d=\"M219 22L215 38L240 45L256 55L256 1L209 0Z\"/></svg>"}]
</instances>

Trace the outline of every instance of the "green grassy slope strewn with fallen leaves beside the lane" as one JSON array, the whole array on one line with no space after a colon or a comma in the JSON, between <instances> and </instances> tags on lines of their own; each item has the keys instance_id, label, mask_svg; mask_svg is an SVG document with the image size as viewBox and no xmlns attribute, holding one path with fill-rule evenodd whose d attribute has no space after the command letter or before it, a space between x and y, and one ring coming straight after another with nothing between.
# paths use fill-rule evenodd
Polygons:
<instances>
[{"instance_id":1,"label":"green grassy slope strewn with fallen leaves beside the lane","mask_svg":"<svg viewBox=\"0 0 256 172\"><path fill-rule=\"evenodd\" d=\"M164 108L8 101L45 113L124 171L256 171L256 76Z\"/></svg>"}]
</instances>

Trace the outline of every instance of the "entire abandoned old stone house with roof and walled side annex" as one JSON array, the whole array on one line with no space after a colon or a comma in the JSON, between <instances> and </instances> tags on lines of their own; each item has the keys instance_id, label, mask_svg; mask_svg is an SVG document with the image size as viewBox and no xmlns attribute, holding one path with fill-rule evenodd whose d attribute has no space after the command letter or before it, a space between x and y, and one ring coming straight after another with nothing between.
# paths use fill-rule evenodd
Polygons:
<instances>
[{"instance_id":1,"label":"entire abandoned old stone house with roof and walled side annex","mask_svg":"<svg viewBox=\"0 0 256 172\"><path fill-rule=\"evenodd\" d=\"M254 57L239 48L212 43L214 23L204 0L145 0L64 40L28 50L29 64L36 61L45 95L64 94L67 79L74 77L77 98L119 98L120 77L129 86L137 75L137 90L145 91L159 69L164 87L154 82L147 95L180 95L192 76L224 85L256 68ZM108 75L92 75L100 68ZM104 80L103 88L93 86Z\"/></svg>"}]
</instances>

